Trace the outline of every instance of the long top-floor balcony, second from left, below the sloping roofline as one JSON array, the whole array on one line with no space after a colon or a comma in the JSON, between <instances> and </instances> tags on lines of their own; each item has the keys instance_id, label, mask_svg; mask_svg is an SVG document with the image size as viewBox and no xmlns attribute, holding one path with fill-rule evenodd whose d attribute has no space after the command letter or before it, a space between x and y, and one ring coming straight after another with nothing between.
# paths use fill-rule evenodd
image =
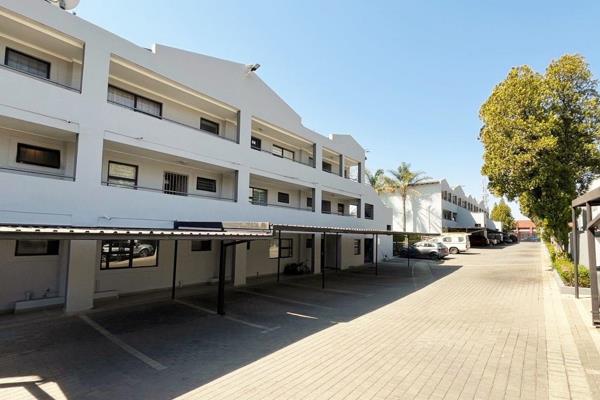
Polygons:
<instances>
[{"instance_id":1,"label":"long top-floor balcony, second from left, below the sloping roofline","mask_svg":"<svg viewBox=\"0 0 600 400\"><path fill-rule=\"evenodd\" d=\"M239 140L238 110L114 55L107 102L199 133Z\"/></svg>"}]
</instances>

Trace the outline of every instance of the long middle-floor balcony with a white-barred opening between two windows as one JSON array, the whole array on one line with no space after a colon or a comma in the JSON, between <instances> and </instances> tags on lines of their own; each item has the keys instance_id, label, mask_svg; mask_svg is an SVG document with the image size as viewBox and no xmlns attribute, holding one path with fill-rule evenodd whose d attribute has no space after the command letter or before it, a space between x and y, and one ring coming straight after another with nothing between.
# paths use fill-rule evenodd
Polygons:
<instances>
[{"instance_id":1,"label":"long middle-floor balcony with a white-barred opening between two windows","mask_svg":"<svg viewBox=\"0 0 600 400\"><path fill-rule=\"evenodd\" d=\"M237 171L105 140L102 184L171 196L236 201Z\"/></svg>"}]
</instances>

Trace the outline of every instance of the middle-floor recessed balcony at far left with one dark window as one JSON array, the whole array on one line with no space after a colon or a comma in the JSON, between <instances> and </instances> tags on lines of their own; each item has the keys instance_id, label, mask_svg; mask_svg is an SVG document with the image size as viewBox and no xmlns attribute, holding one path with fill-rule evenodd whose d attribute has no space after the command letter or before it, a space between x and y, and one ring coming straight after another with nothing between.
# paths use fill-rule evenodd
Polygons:
<instances>
[{"instance_id":1,"label":"middle-floor recessed balcony at far left with one dark window","mask_svg":"<svg viewBox=\"0 0 600 400\"><path fill-rule=\"evenodd\" d=\"M75 180L77 135L0 117L0 172Z\"/></svg>"}]
</instances>

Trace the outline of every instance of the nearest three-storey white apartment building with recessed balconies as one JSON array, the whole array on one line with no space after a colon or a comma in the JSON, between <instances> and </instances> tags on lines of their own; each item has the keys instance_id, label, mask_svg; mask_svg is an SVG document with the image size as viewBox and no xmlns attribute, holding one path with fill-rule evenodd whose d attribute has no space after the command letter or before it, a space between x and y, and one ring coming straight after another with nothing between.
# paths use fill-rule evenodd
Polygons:
<instances>
[{"instance_id":1,"label":"nearest three-storey white apartment building with recessed balconies","mask_svg":"<svg viewBox=\"0 0 600 400\"><path fill-rule=\"evenodd\" d=\"M252 66L142 48L43 0L0 0L0 60L0 310L210 282L223 253L236 285L391 255L366 234L392 212L365 150L304 127Z\"/></svg>"}]
</instances>

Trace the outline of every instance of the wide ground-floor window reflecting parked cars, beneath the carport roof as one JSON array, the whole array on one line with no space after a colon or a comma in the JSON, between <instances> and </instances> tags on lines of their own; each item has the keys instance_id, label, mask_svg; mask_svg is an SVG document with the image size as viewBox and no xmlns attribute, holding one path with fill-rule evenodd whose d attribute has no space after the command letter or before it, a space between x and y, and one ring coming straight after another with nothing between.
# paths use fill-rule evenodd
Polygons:
<instances>
[{"instance_id":1,"label":"wide ground-floor window reflecting parked cars, beneath the carport roof","mask_svg":"<svg viewBox=\"0 0 600 400\"><path fill-rule=\"evenodd\" d=\"M158 266L158 240L103 240L100 269Z\"/></svg>"}]
</instances>

